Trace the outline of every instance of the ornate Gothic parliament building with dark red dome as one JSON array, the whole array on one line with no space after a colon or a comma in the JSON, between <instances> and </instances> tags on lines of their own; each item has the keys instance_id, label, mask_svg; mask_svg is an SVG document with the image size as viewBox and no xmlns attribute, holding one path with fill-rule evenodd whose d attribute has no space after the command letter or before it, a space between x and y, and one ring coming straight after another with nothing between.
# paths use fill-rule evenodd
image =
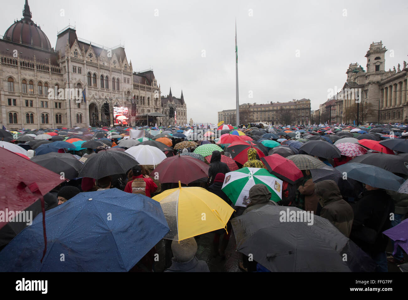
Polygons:
<instances>
[{"instance_id":1,"label":"ornate Gothic parliament building with dark red dome","mask_svg":"<svg viewBox=\"0 0 408 300\"><path fill-rule=\"evenodd\" d=\"M180 98L171 89L162 96L153 70L133 72L123 46L106 48L78 39L68 26L58 32L54 49L31 18L26 0L23 18L0 38L0 126L117 126L117 112L127 117L119 122L126 126L187 123L182 91ZM60 89L76 95L65 97Z\"/></svg>"}]
</instances>

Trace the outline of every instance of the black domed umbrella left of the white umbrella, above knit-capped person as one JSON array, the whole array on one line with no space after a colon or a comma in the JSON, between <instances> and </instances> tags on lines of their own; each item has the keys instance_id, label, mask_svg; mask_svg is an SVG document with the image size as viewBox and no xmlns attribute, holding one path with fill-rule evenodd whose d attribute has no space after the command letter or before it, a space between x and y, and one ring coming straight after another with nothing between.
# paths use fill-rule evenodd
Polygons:
<instances>
[{"instance_id":1,"label":"black domed umbrella left of the white umbrella, above knit-capped person","mask_svg":"<svg viewBox=\"0 0 408 300\"><path fill-rule=\"evenodd\" d=\"M102 177L125 174L139 164L135 158L122 151L101 150L86 160L79 172L79 177L100 179Z\"/></svg>"}]
</instances>

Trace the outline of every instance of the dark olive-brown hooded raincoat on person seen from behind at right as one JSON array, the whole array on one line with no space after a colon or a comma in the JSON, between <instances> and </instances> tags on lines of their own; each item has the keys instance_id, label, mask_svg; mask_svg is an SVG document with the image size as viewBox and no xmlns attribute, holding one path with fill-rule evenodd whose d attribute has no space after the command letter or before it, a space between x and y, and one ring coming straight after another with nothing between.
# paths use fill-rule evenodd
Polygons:
<instances>
[{"instance_id":1,"label":"dark olive-brown hooded raincoat on person seen from behind at right","mask_svg":"<svg viewBox=\"0 0 408 300\"><path fill-rule=\"evenodd\" d=\"M315 193L320 198L320 216L329 220L345 236L349 237L353 226L353 208L341 196L339 187L333 180L315 183Z\"/></svg>"}]
</instances>

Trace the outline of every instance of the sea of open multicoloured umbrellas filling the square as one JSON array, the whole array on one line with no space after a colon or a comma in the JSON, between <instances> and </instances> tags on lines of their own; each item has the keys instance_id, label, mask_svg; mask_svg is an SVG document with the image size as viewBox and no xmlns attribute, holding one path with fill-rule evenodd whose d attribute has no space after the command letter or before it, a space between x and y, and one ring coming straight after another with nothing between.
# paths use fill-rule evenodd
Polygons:
<instances>
[{"instance_id":1,"label":"sea of open multicoloured umbrellas filling the square","mask_svg":"<svg viewBox=\"0 0 408 300\"><path fill-rule=\"evenodd\" d=\"M180 184L153 199L113 189L80 193L69 201L70 205L60 205L47 213L43 210L41 218L35 218L30 227L17 234L0 252L0 270L129 271L162 238L184 240L226 228L233 208L206 189L188 187L193 182L207 181L213 151L221 152L221 161L231 171L226 174L229 177L222 190L235 206L246 207L249 200L245 195L258 183L266 185L272 193L271 200L279 202L282 200L283 182L299 182L303 177L302 170L310 170L314 182L334 180L344 197L356 197L359 182L408 193L408 181L402 178L408 175L408 142L402 135L406 130L404 125L399 124L271 128L222 125L217 129L0 129L0 155L4 170L1 192L7 194L7 200L0 200L3 211L27 209L64 181L78 178L98 180L126 174L135 165L152 165L150 176L161 184ZM137 136L141 137L132 138L131 131L137 131ZM248 160L249 149L255 149L264 169L242 167ZM347 174L347 180L344 180L344 174ZM181 184L187 187L181 187ZM120 215L120 218L112 218L111 223L106 223L102 216L107 213ZM202 213L207 216L205 226L200 222ZM249 214L233 220L237 250L245 254L254 253L257 261L263 262L270 271L287 270L288 264L292 271L304 270L311 265L307 260L301 264L298 261L271 263L265 260L262 252L265 244L257 244L254 240L262 241L259 229L276 227L274 220L279 218L279 212L268 207L259 213L256 220ZM333 249L343 249L349 242L348 238L335 232L330 222L320 219L313 232L308 226L294 229L290 224L285 224L281 231L292 237L295 234L290 232L294 230L310 231L308 236L312 240L302 247L299 245L299 249L304 253L320 249L317 256L324 258L328 269L333 271L355 270L334 259L338 253ZM6 224L0 222L0 229ZM332 248L319 241L318 227L324 227L328 239L335 241ZM276 246L274 241L282 237L273 236L275 233L271 228L267 229L271 232L269 241ZM248 245L248 235L252 232L253 242ZM78 240L83 243L78 244ZM286 242L296 243L299 240L286 239ZM24 252L27 245L31 249L29 253ZM61 267L55 261L67 248L71 249L71 264ZM83 253L91 255L84 256ZM328 269L317 267L310 270Z\"/></svg>"}]
</instances>

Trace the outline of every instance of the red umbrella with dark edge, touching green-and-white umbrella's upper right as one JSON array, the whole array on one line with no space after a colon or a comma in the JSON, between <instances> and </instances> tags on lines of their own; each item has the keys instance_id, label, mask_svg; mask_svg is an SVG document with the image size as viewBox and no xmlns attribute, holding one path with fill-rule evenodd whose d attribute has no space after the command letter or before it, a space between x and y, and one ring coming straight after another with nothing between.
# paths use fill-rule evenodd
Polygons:
<instances>
[{"instance_id":1,"label":"red umbrella with dark edge, touching green-and-white umbrella's upper right","mask_svg":"<svg viewBox=\"0 0 408 300\"><path fill-rule=\"evenodd\" d=\"M303 173L300 171L292 160L288 160L279 154L272 154L261 158L269 173L276 177L296 184L296 182L303 178Z\"/></svg>"}]
</instances>

